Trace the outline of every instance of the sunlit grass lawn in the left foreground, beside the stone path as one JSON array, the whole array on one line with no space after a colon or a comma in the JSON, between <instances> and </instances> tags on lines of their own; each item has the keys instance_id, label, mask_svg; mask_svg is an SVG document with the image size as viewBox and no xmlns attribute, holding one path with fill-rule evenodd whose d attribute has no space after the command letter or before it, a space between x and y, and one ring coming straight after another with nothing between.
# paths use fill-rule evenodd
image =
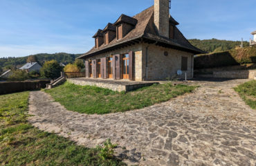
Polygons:
<instances>
[{"instance_id":1,"label":"sunlit grass lawn in the left foreground, beside the stone path","mask_svg":"<svg viewBox=\"0 0 256 166\"><path fill-rule=\"evenodd\" d=\"M0 165L124 165L98 149L39 131L27 121L28 92L0 95Z\"/></svg>"}]
</instances>

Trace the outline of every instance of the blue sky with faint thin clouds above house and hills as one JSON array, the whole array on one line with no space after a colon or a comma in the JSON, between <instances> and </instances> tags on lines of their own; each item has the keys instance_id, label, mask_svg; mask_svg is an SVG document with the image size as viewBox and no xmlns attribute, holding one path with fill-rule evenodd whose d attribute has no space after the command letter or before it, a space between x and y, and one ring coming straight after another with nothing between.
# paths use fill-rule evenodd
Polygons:
<instances>
[{"instance_id":1,"label":"blue sky with faint thin clouds above house and hills","mask_svg":"<svg viewBox=\"0 0 256 166\"><path fill-rule=\"evenodd\" d=\"M154 0L0 0L0 57L85 53L98 28L152 5ZM256 30L255 6L255 0L172 0L170 12L188 39L248 41Z\"/></svg>"}]
</instances>

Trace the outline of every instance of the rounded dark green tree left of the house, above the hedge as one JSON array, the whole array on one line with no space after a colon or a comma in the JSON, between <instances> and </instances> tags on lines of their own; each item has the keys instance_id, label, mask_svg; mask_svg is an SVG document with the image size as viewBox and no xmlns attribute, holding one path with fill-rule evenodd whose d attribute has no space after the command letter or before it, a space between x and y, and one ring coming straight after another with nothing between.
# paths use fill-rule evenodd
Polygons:
<instances>
[{"instance_id":1,"label":"rounded dark green tree left of the house, above the hedge","mask_svg":"<svg viewBox=\"0 0 256 166\"><path fill-rule=\"evenodd\" d=\"M42 77L55 79L60 77L60 72L62 71L62 66L56 61L46 61L40 70Z\"/></svg>"}]
</instances>

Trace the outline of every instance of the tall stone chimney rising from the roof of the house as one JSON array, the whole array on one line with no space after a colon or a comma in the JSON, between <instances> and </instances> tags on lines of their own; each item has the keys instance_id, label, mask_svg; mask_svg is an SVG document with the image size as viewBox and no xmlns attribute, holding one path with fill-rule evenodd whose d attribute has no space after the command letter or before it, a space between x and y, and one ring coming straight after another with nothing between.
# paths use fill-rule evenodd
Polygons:
<instances>
[{"instance_id":1,"label":"tall stone chimney rising from the roof of the house","mask_svg":"<svg viewBox=\"0 0 256 166\"><path fill-rule=\"evenodd\" d=\"M154 23L159 35L169 38L170 1L154 0Z\"/></svg>"}]
</instances>

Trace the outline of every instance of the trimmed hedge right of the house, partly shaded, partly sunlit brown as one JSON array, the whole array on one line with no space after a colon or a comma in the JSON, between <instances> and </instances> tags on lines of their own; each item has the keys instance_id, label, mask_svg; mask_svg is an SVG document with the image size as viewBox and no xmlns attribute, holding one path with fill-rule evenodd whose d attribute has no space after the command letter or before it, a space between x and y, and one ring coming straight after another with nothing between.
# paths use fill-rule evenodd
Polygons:
<instances>
[{"instance_id":1,"label":"trimmed hedge right of the house, partly shaded, partly sunlit brown","mask_svg":"<svg viewBox=\"0 0 256 166\"><path fill-rule=\"evenodd\" d=\"M194 68L214 68L256 63L256 47L232 50L194 57Z\"/></svg>"}]
</instances>

